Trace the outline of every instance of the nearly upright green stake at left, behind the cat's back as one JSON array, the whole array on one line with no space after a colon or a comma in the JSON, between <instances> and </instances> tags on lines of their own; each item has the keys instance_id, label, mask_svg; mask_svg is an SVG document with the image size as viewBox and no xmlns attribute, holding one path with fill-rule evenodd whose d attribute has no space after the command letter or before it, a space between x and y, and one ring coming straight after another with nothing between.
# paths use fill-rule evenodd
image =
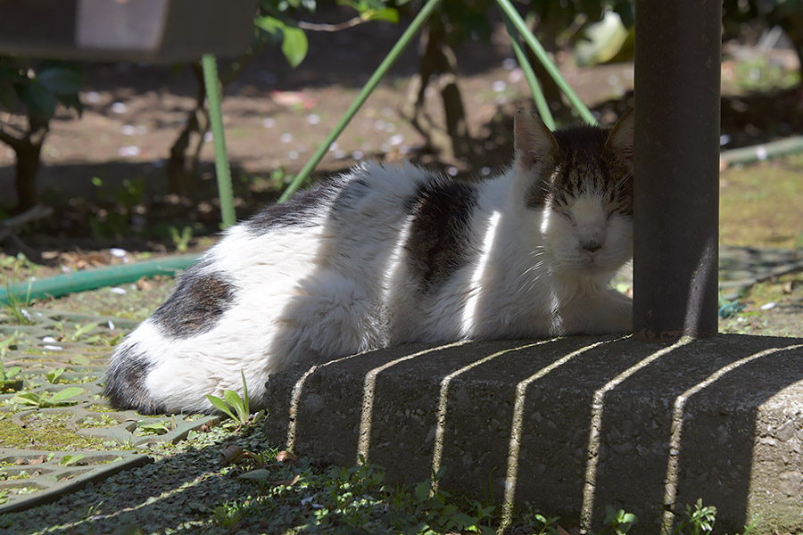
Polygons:
<instances>
[{"instance_id":1,"label":"nearly upright green stake at left, behind the cat's back","mask_svg":"<svg viewBox=\"0 0 803 535\"><path fill-rule=\"evenodd\" d=\"M234 194L231 191L231 171L228 168L226 138L223 135L223 113L220 111L220 87L218 64L211 53L203 54L203 84L206 86L206 99L209 102L209 120L215 144L215 171L218 176L218 196L223 228L235 224Z\"/></svg>"}]
</instances>

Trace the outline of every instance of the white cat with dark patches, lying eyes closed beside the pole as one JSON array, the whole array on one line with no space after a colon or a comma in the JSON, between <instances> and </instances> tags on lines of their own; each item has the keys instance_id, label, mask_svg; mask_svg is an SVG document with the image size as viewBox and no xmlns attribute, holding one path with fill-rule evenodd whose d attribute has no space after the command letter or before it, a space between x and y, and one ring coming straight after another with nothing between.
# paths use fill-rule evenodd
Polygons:
<instances>
[{"instance_id":1,"label":"white cat with dark patches, lying eyes closed beside the pole","mask_svg":"<svg viewBox=\"0 0 803 535\"><path fill-rule=\"evenodd\" d=\"M551 133L519 111L514 160L460 180L363 162L232 226L112 355L142 414L253 408L297 362L402 342L632 332L610 279L633 255L633 111Z\"/></svg>"}]
</instances>

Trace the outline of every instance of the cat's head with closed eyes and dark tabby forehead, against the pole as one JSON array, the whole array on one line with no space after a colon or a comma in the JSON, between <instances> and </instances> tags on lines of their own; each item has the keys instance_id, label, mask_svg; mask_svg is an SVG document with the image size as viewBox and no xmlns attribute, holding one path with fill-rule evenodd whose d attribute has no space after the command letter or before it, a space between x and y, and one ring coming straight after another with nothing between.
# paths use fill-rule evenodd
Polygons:
<instances>
[{"instance_id":1,"label":"cat's head with closed eyes and dark tabby forehead, against the pole","mask_svg":"<svg viewBox=\"0 0 803 535\"><path fill-rule=\"evenodd\" d=\"M552 133L519 111L516 172L554 271L606 275L633 256L633 110L614 128Z\"/></svg>"}]
</instances>

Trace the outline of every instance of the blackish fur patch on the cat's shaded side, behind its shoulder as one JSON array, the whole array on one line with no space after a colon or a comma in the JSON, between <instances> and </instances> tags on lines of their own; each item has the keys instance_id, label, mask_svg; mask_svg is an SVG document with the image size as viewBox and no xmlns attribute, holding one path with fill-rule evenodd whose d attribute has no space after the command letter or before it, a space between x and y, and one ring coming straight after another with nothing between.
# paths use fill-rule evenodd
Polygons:
<instances>
[{"instance_id":1,"label":"blackish fur patch on the cat's shaded side, behind its shoulder","mask_svg":"<svg viewBox=\"0 0 803 535\"><path fill-rule=\"evenodd\" d=\"M476 188L452 180L435 180L422 186L410 200L408 252L410 275L423 292L437 288L468 263L471 216Z\"/></svg>"}]
</instances>

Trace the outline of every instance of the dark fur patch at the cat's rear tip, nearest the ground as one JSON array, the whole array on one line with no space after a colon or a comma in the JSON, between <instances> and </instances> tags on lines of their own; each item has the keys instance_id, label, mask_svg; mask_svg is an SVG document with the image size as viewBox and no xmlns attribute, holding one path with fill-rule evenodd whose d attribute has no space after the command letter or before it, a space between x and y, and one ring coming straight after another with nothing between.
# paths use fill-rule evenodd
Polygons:
<instances>
[{"instance_id":1,"label":"dark fur patch at the cat's rear tip, nearest the ground","mask_svg":"<svg viewBox=\"0 0 803 535\"><path fill-rule=\"evenodd\" d=\"M156 403L145 388L145 378L153 363L137 349L137 345L122 346L112 365L106 370L106 386L103 394L112 407L120 410L134 409L143 415L164 413L164 407Z\"/></svg>"}]
</instances>

